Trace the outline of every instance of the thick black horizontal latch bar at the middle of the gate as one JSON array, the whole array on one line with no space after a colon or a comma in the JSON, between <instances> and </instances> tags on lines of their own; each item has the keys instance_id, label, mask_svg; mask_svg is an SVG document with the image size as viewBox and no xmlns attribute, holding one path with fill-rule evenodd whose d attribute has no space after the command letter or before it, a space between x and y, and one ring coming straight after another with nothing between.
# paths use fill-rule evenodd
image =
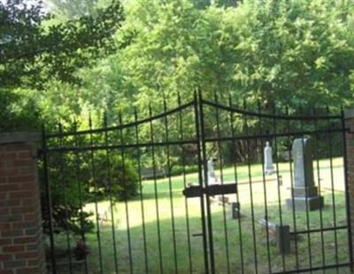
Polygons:
<instances>
[{"instance_id":1,"label":"thick black horizontal latch bar at the middle of the gate","mask_svg":"<svg viewBox=\"0 0 354 274\"><path fill-rule=\"evenodd\" d=\"M207 194L209 196L221 195L221 194L235 194L237 193L237 184L217 184L210 185L207 187L201 186L188 186L183 189L182 194L187 198L199 197L203 194Z\"/></svg>"}]
</instances>

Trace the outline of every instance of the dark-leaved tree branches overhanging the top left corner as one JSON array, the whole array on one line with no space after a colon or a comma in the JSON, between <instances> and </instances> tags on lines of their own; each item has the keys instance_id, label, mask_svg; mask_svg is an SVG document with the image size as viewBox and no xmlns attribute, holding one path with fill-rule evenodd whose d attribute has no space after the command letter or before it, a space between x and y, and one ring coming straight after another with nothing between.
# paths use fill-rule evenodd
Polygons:
<instances>
[{"instance_id":1,"label":"dark-leaved tree branches overhanging the top left corner","mask_svg":"<svg viewBox=\"0 0 354 274\"><path fill-rule=\"evenodd\" d=\"M1 88L43 88L50 79L77 83L77 68L116 50L113 34L121 27L123 10L118 1L65 24L43 27L49 15L42 3L0 4Z\"/></svg>"}]
</instances>

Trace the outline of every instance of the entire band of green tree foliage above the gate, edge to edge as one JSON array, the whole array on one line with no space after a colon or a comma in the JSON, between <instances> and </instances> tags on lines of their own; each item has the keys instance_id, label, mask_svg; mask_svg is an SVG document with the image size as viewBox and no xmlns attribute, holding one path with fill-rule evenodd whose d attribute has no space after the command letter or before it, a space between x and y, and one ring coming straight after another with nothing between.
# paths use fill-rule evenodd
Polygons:
<instances>
[{"instance_id":1,"label":"entire band of green tree foliage above the gate, edge to edge","mask_svg":"<svg viewBox=\"0 0 354 274\"><path fill-rule=\"evenodd\" d=\"M55 24L38 7L2 5L0 80L7 88L45 86L30 95L48 117L107 110L116 121L132 105L146 115L149 103L161 111L164 96L189 100L196 87L209 98L231 93L280 107L354 102L350 0L126 0L122 26L119 3L46 1L61 6Z\"/></svg>"}]
</instances>

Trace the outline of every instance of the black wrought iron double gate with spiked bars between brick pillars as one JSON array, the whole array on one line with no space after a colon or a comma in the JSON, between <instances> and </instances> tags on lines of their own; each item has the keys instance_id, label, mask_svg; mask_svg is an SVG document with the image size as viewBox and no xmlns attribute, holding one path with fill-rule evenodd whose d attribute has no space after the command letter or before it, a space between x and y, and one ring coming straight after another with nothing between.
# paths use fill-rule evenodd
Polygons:
<instances>
[{"instance_id":1,"label":"black wrought iron double gate with spiked bars between brick pillars","mask_svg":"<svg viewBox=\"0 0 354 274\"><path fill-rule=\"evenodd\" d=\"M43 130L50 271L350 272L342 113L177 103Z\"/></svg>"}]
</instances>

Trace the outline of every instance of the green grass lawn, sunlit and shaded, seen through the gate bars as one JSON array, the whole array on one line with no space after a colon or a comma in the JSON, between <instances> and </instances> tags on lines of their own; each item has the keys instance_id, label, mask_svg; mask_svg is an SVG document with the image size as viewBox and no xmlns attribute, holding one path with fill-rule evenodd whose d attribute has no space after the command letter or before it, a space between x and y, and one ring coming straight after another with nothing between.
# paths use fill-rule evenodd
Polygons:
<instances>
[{"instance_id":1,"label":"green grass lawn, sunlit and shaded, seen through the gate bars","mask_svg":"<svg viewBox=\"0 0 354 274\"><path fill-rule=\"evenodd\" d=\"M317 170L317 163L314 164L315 181L316 184L319 182L321 185L325 207L308 214L300 211L294 213L292 209L285 207L285 199L290 194L288 188L291 186L289 164L278 165L279 175L281 175L283 182L283 185L279 187L276 174L267 176L267 181L264 183L261 165L252 165L250 168L253 182L251 185L252 196L250 195L248 167L239 166L237 168L237 178L240 183L238 194L241 202L242 218L240 220L232 219L228 205L221 206L213 202L211 206L212 236L217 273L227 273L227 270L232 273L241 273L242 261L245 273L255 273L256 262L259 273L267 273L269 268L272 271L294 270L296 269L296 261L297 267L308 268L310 266L310 255L312 266L319 266L323 262L326 264L347 263L349 255L346 229L336 232L312 232L309 236L301 234L296 241L291 242L290 255L279 255L272 237L268 241L264 227L258 224L258 221L266 215L267 210L271 222L290 225L291 230L294 230L294 226L296 226L297 231L303 231L308 228L317 229L321 226L346 225L345 197L341 191L344 184L342 158L335 158L332 164L334 166L332 173L329 168L329 160L319 161L319 170ZM222 173L224 182L235 181L234 167L228 167ZM220 171L218 176L221 177ZM158 200L155 200L155 183L158 188ZM169 179L158 179L156 182L144 180L142 182L143 202L141 202L140 197L136 197L127 204L119 202L114 205L114 236L116 239L117 267L120 273L130 272L129 249L131 250L130 258L134 273L145 273L146 269L150 273L173 273L176 270L180 273L204 272L203 238L192 236L192 234L202 232L200 200L190 198L186 202L181 194L184 183L197 183L196 173L188 174L185 181L182 176L171 178L171 194L169 183ZM330 190L332 184L336 191ZM170 199L171 196L172 200ZM229 195L228 198L230 201L235 201L236 194ZM253 203L253 211L251 202ZM142 223L142 206L144 223ZM109 202L99 203L99 211L109 210L109 208ZM94 212L95 205L89 204L86 209ZM111 212L108 212L108 215L111 216ZM128 216L126 212L128 212ZM322 216L322 222L320 222L320 216ZM129 226L129 229L127 229L127 226ZM158 246L158 226L160 247ZM145 230L146 244L144 244L143 229ZM253 229L255 235L253 235ZM103 272L114 273L115 260L111 218L104 220L99 231ZM128 236L130 240L128 240ZM74 240L72 245L74 245ZM57 236L56 242L58 246L65 246L63 236ZM96 233L87 234L87 244L90 250L88 256L89 272L99 273ZM269 247L269 253L267 247ZM145 248L147 251L146 257ZM322 250L325 252L323 253ZM257 254L257 260L255 254ZM270 259L270 264L268 259ZM162 270L160 265L162 265ZM80 263L75 266L78 273L81 268ZM60 273L66 273L68 269L63 265L58 270ZM323 273L322 270L319 272ZM336 271L326 271L326 273L332 272L335 273ZM343 272L345 270L340 270L340 273Z\"/></svg>"}]
</instances>

